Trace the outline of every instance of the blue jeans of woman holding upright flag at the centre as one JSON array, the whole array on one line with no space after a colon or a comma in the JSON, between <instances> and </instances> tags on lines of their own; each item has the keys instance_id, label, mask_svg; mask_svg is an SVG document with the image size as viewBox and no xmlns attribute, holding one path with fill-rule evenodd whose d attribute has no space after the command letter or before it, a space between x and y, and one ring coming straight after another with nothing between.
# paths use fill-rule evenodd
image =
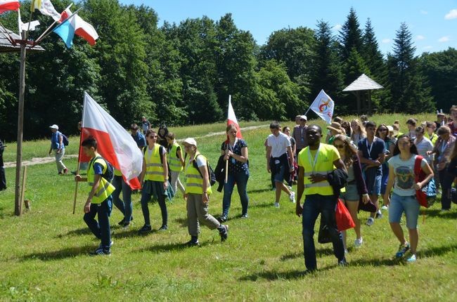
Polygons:
<instances>
[{"instance_id":1,"label":"blue jeans of woman holding upright flag at the centre","mask_svg":"<svg viewBox=\"0 0 457 302\"><path fill-rule=\"evenodd\" d=\"M224 183L224 199L222 199L222 215L228 216L228 209L230 209L230 202L233 193L233 187L238 187L238 195L241 201L241 215L247 214L247 206L249 204L249 197L247 197L246 185L249 175L244 172L228 173L227 183Z\"/></svg>"}]
</instances>

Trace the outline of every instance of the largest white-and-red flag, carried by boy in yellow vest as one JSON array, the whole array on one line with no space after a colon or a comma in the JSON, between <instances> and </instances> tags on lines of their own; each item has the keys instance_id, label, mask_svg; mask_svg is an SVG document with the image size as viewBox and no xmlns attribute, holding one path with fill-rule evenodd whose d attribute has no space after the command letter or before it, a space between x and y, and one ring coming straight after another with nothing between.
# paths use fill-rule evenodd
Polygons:
<instances>
[{"instance_id":1,"label":"largest white-and-red flag, carried by boy in yellow vest","mask_svg":"<svg viewBox=\"0 0 457 302\"><path fill-rule=\"evenodd\" d=\"M97 152L117 170L130 188L139 189L138 176L143 168L143 154L131 137L119 123L113 119L94 99L84 92L82 112L81 143L89 136L97 140ZM89 162L79 145L79 162Z\"/></svg>"}]
</instances>

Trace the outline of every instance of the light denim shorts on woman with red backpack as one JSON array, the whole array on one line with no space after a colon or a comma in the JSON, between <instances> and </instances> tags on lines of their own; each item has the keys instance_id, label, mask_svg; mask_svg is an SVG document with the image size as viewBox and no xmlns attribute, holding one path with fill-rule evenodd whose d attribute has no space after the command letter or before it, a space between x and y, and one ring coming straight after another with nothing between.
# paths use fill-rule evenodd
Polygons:
<instances>
[{"instance_id":1,"label":"light denim shorts on woman with red backpack","mask_svg":"<svg viewBox=\"0 0 457 302\"><path fill-rule=\"evenodd\" d=\"M389 205L389 222L399 223L403 212L406 216L406 227L408 229L418 228L420 204L416 196L400 196L392 192Z\"/></svg>"}]
</instances>

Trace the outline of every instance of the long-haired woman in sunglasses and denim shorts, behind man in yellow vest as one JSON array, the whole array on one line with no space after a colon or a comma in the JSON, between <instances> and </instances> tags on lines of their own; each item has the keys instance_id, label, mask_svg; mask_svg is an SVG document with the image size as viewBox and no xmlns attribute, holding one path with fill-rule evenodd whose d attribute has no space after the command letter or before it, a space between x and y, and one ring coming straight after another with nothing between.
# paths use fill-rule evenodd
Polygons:
<instances>
[{"instance_id":1,"label":"long-haired woman in sunglasses and denim shorts, behind man in yellow vest","mask_svg":"<svg viewBox=\"0 0 457 302\"><path fill-rule=\"evenodd\" d=\"M346 192L342 192L340 198L345 200L346 207L356 224L354 228L356 232L354 247L359 248L363 243L360 221L359 218L357 218L359 200L362 198L362 202L367 203L370 200L370 197L368 197L365 180L363 180L359 155L357 155L357 150L351 143L351 138L338 134L333 140L333 145L337 148L338 152L340 152L341 160L345 163L347 169L348 178ZM343 231L342 234L345 251L347 251L346 231Z\"/></svg>"}]
</instances>

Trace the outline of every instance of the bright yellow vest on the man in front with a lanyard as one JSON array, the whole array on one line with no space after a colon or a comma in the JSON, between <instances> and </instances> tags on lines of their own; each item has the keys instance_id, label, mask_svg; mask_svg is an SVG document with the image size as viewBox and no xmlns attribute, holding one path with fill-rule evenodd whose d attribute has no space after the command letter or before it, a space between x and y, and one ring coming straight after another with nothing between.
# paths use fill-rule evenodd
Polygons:
<instances>
[{"instance_id":1,"label":"bright yellow vest on the man in front with a lanyard","mask_svg":"<svg viewBox=\"0 0 457 302\"><path fill-rule=\"evenodd\" d=\"M318 158L316 160L316 166L314 164L314 157L309 158L309 147L305 147L299 153L301 164L304 168L304 195L319 194L319 195L333 195L333 188L328 183L328 180L324 180L318 183L311 183L309 176L311 174L327 174L333 171L333 152L338 152L333 145L327 145L321 143L318 152Z\"/></svg>"}]
</instances>

